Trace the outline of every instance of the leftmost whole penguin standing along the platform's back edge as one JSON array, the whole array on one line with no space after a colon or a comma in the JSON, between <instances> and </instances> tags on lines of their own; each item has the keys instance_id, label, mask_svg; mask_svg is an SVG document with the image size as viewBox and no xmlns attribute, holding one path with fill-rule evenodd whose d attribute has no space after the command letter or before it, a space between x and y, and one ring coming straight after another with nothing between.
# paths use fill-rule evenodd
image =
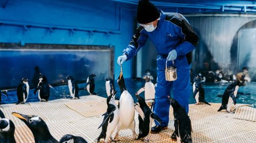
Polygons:
<instances>
[{"instance_id":1,"label":"leftmost whole penguin standing along the platform's back edge","mask_svg":"<svg viewBox=\"0 0 256 143\"><path fill-rule=\"evenodd\" d=\"M17 87L17 104L25 104L29 95L29 84L27 78L22 78Z\"/></svg>"}]
</instances>

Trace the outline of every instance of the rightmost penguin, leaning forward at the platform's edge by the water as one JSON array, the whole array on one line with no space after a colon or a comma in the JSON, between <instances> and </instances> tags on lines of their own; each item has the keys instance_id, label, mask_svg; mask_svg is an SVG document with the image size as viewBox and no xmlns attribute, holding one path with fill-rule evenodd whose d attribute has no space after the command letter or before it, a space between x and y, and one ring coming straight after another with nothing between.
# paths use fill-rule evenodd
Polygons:
<instances>
[{"instance_id":1,"label":"rightmost penguin, leaning forward at the platform's edge by the water","mask_svg":"<svg viewBox=\"0 0 256 143\"><path fill-rule=\"evenodd\" d=\"M240 86L244 86L244 83L241 83L240 81L236 81L226 88L224 91L224 94L222 96L222 103L221 107L218 111L221 111L223 109L226 109L228 112L230 112L230 108L233 105L237 104L237 93Z\"/></svg>"}]
</instances>

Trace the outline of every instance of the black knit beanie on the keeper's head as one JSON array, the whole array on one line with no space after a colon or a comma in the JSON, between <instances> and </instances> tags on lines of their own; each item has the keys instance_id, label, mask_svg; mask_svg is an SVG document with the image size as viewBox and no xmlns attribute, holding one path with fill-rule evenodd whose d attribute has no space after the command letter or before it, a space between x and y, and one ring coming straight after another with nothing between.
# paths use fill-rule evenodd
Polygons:
<instances>
[{"instance_id":1,"label":"black knit beanie on the keeper's head","mask_svg":"<svg viewBox=\"0 0 256 143\"><path fill-rule=\"evenodd\" d=\"M158 9L150 2L150 0L140 0L137 9L138 23L146 24L155 21L160 17Z\"/></svg>"}]
</instances>

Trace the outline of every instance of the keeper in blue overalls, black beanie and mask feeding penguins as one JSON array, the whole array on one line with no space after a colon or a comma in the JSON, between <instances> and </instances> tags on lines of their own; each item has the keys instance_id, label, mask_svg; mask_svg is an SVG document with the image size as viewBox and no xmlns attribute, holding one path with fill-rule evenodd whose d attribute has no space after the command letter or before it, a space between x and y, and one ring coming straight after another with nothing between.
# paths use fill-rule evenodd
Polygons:
<instances>
[{"instance_id":1,"label":"keeper in blue overalls, black beanie and mask feeding penguins","mask_svg":"<svg viewBox=\"0 0 256 143\"><path fill-rule=\"evenodd\" d=\"M157 56L157 86L155 93L154 112L161 118L163 124L158 122L152 128L153 133L167 129L169 121L168 97L173 89L173 98L185 108L188 113L188 99L190 96L190 74L192 51L198 44L198 36L189 25L185 17L179 13L164 13L157 9L148 0L139 1L137 9L139 27L132 37L132 41L118 57L117 63L121 65L130 60L146 43L147 38L156 46ZM165 62L167 66L177 67L178 79L173 82L165 80Z\"/></svg>"}]
</instances>

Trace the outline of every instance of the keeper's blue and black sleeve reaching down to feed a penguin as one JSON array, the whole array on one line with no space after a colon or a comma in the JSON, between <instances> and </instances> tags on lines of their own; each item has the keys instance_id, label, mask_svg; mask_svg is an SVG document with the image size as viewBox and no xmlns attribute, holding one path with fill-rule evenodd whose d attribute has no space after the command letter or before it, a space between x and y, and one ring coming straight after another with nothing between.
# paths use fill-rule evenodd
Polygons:
<instances>
[{"instance_id":1,"label":"keeper's blue and black sleeve reaching down to feed a penguin","mask_svg":"<svg viewBox=\"0 0 256 143\"><path fill-rule=\"evenodd\" d=\"M127 56L127 60L130 60L132 57L134 57L137 54L137 52L140 50L140 48L145 45L147 40L147 35L143 31L144 31L144 28L142 26L139 26L136 29L136 32L133 35L133 38L130 44L127 46L125 50L123 50L123 55Z\"/></svg>"}]
</instances>

